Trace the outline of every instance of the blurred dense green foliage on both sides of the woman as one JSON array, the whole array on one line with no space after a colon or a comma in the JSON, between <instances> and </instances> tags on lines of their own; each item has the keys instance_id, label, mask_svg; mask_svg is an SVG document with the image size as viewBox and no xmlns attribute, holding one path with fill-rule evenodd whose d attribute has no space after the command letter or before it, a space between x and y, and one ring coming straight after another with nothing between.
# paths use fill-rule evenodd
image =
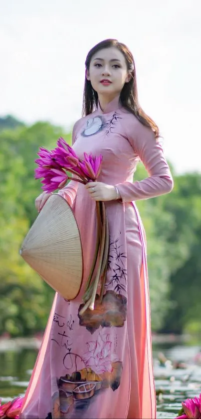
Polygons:
<instances>
[{"instance_id":1,"label":"blurred dense green foliage on both sides of the woman","mask_svg":"<svg viewBox=\"0 0 201 419\"><path fill-rule=\"evenodd\" d=\"M37 216L34 180L39 146L71 135L48 122L26 126L0 118L0 334L30 335L45 328L54 292L19 256ZM138 165L135 179L147 173ZM174 174L174 169L172 168ZM171 194L138 201L148 245L154 331L201 331L201 174L174 175Z\"/></svg>"}]
</instances>

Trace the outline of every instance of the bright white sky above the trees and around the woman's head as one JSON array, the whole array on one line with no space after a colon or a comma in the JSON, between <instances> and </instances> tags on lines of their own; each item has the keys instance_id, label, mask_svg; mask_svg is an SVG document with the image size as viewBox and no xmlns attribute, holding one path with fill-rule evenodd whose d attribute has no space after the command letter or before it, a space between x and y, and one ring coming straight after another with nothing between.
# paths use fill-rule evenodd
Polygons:
<instances>
[{"instance_id":1,"label":"bright white sky above the trees and around the woman's head","mask_svg":"<svg viewBox=\"0 0 201 419\"><path fill-rule=\"evenodd\" d=\"M200 0L0 0L0 116L65 128L80 118L89 49L134 55L140 104L176 172L201 172Z\"/></svg>"}]
</instances>

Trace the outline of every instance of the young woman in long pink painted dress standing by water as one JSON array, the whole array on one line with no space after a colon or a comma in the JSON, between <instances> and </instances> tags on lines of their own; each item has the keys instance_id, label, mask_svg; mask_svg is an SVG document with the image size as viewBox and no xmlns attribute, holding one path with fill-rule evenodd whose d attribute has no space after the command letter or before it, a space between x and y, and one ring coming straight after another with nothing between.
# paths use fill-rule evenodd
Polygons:
<instances>
[{"instance_id":1,"label":"young woman in long pink painted dress standing by water","mask_svg":"<svg viewBox=\"0 0 201 419\"><path fill-rule=\"evenodd\" d=\"M138 199L171 192L159 129L138 103L135 63L115 39L86 58L83 117L72 134L80 158L103 155L97 182L59 191L80 230L84 276L73 301L55 295L20 418L156 418L146 239ZM133 183L141 160L149 177ZM49 194L35 201L41 210ZM110 257L102 305L80 315L96 240L95 201L105 201ZM79 394L79 396L78 396Z\"/></svg>"}]
</instances>

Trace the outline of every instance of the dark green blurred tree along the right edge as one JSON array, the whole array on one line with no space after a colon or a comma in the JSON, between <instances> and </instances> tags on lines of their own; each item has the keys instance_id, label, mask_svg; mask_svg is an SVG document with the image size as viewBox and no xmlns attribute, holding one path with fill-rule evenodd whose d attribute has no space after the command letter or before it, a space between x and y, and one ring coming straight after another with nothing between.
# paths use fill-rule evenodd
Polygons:
<instances>
[{"instance_id":1,"label":"dark green blurred tree along the right edge","mask_svg":"<svg viewBox=\"0 0 201 419\"><path fill-rule=\"evenodd\" d=\"M201 174L188 173L175 178L175 188L161 197L162 207L174 214L175 228L168 237L171 307L162 331L199 331L201 324ZM197 327L196 327L197 325ZM200 328L201 330L201 328Z\"/></svg>"}]
</instances>

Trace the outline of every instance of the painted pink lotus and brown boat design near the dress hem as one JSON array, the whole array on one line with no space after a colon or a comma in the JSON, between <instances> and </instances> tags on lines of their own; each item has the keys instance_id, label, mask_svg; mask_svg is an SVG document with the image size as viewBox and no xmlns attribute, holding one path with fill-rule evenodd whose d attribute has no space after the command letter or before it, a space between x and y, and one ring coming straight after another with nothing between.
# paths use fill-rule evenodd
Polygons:
<instances>
[{"instance_id":1,"label":"painted pink lotus and brown boat design near the dress hem","mask_svg":"<svg viewBox=\"0 0 201 419\"><path fill-rule=\"evenodd\" d=\"M67 418L74 415L74 410L84 412L100 390L110 387L115 391L120 386L123 366L116 354L116 333L101 331L95 340L86 342L86 347L82 355L85 368L61 376L57 381L58 392L52 397L54 418Z\"/></svg>"}]
</instances>

